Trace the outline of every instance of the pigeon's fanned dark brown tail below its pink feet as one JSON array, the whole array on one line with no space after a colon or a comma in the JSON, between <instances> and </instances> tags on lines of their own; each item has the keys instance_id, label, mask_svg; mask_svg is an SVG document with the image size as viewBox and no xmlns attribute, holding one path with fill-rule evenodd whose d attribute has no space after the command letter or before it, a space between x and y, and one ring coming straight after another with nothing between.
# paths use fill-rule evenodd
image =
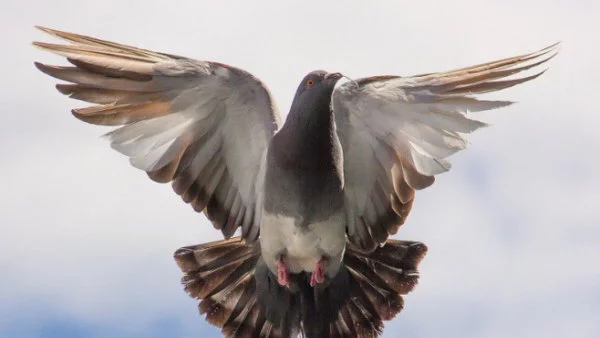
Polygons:
<instances>
[{"instance_id":1,"label":"pigeon's fanned dark brown tail below its pink feet","mask_svg":"<svg viewBox=\"0 0 600 338\"><path fill-rule=\"evenodd\" d=\"M226 337L374 338L402 310L426 252L398 240L371 253L348 247L335 278L312 288L308 274L293 275L289 289L262 262L260 247L239 238L184 247L175 259L200 313Z\"/></svg>"}]
</instances>

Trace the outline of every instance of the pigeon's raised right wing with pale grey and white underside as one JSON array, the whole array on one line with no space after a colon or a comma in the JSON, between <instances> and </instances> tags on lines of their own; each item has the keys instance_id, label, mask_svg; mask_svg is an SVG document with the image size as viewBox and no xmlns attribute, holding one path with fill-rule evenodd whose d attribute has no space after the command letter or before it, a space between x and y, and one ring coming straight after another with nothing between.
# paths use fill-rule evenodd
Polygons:
<instances>
[{"instance_id":1,"label":"pigeon's raised right wing with pale grey and white underside","mask_svg":"<svg viewBox=\"0 0 600 338\"><path fill-rule=\"evenodd\" d=\"M485 126L466 113L512 103L473 95L535 79L544 71L506 78L543 64L557 48L444 73L376 76L339 86L332 104L344 151L350 241L370 251L396 233L414 191L450 169L446 158L467 146L463 134Z\"/></svg>"}]
</instances>

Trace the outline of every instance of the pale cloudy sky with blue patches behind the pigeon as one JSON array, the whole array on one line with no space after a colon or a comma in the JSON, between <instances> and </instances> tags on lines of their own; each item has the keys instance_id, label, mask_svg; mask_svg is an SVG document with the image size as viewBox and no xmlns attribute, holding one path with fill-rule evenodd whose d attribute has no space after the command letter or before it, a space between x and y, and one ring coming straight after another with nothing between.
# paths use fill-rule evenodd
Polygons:
<instances>
[{"instance_id":1,"label":"pale cloudy sky with blue patches behind the pigeon","mask_svg":"<svg viewBox=\"0 0 600 338\"><path fill-rule=\"evenodd\" d=\"M73 118L33 25L248 70L282 115L298 82L444 71L562 41L549 71L487 98L453 169L395 236L426 243L383 337L600 337L600 2L12 1L0 35L0 337L220 337L172 254L220 238Z\"/></svg>"}]
</instances>

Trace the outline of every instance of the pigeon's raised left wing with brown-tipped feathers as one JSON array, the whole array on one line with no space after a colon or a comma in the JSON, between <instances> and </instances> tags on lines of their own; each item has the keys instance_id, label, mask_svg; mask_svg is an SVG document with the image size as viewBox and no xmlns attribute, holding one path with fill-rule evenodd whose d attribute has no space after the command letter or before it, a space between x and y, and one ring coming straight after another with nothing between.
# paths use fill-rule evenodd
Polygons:
<instances>
[{"instance_id":1,"label":"pigeon's raised left wing with brown-tipped feathers","mask_svg":"<svg viewBox=\"0 0 600 338\"><path fill-rule=\"evenodd\" d=\"M205 211L230 237L258 236L256 179L280 118L266 87L251 74L87 36L39 27L70 44L34 42L73 65L36 63L69 82L56 88L95 105L74 109L88 123L120 126L106 135L136 168Z\"/></svg>"}]
</instances>

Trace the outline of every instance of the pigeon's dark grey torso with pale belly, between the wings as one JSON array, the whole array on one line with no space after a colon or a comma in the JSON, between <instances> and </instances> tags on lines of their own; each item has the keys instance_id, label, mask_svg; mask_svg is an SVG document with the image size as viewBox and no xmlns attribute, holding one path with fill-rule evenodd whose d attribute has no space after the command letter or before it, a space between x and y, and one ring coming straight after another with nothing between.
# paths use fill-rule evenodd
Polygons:
<instances>
[{"instance_id":1,"label":"pigeon's dark grey torso with pale belly, between the wings","mask_svg":"<svg viewBox=\"0 0 600 338\"><path fill-rule=\"evenodd\" d=\"M309 74L296 97L318 90L305 83L325 76L323 71ZM274 273L279 258L291 273L312 272L325 258L327 274L334 276L342 260L346 244L342 147L330 105L338 79L334 76L322 93L309 98L309 104L292 104L267 150L260 243L262 257Z\"/></svg>"}]
</instances>

